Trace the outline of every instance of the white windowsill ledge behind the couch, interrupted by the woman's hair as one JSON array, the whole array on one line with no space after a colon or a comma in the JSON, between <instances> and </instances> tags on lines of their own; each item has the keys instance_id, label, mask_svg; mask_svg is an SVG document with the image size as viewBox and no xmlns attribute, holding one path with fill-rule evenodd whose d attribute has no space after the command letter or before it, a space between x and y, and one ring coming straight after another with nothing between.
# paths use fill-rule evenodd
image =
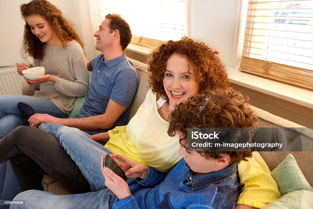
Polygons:
<instances>
[{"instance_id":1,"label":"white windowsill ledge behind the couch, interrupted by the woman's hair","mask_svg":"<svg viewBox=\"0 0 313 209\"><path fill-rule=\"evenodd\" d=\"M149 47L136 44L129 44L127 49L145 57L152 51ZM227 68L227 72L231 83L313 109L313 90L311 89L263 78L230 67Z\"/></svg>"}]
</instances>

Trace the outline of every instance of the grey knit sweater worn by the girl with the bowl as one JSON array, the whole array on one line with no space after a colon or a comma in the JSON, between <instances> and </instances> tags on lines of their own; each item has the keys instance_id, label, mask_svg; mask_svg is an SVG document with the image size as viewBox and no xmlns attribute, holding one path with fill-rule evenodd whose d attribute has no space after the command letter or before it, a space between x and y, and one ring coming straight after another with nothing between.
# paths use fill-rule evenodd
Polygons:
<instances>
[{"instance_id":1,"label":"grey knit sweater worn by the girl with the bowl","mask_svg":"<svg viewBox=\"0 0 313 209\"><path fill-rule=\"evenodd\" d=\"M70 41L67 47L44 47L43 60L34 59L34 67L43 66L45 74L58 78L57 82L28 84L34 96L51 100L62 112L70 114L75 97L88 91L86 57L80 44Z\"/></svg>"}]
</instances>

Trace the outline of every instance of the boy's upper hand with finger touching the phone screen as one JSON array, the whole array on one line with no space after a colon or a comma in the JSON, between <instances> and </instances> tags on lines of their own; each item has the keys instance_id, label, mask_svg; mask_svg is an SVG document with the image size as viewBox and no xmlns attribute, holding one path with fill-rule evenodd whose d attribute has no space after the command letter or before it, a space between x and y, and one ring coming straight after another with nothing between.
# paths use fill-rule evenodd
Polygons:
<instances>
[{"instance_id":1,"label":"boy's upper hand with finger touching the phone screen","mask_svg":"<svg viewBox=\"0 0 313 209\"><path fill-rule=\"evenodd\" d=\"M125 172L125 175L129 178L141 178L144 179L148 172L148 167L141 163L137 163L126 158L124 155L121 154L113 154L110 155L113 160L121 167L121 169ZM116 160L120 159L119 160Z\"/></svg>"}]
</instances>

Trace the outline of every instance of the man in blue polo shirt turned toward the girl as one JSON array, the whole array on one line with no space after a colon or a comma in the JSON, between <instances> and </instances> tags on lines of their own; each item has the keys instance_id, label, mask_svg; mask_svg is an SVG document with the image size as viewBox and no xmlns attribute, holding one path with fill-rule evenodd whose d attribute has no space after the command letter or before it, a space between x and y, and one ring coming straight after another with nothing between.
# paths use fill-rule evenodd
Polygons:
<instances>
[{"instance_id":1,"label":"man in blue polo shirt turned toward the girl","mask_svg":"<svg viewBox=\"0 0 313 209\"><path fill-rule=\"evenodd\" d=\"M92 71L91 83L80 113L74 118L37 113L29 118L30 126L51 122L92 135L127 124L131 101L139 86L138 72L123 54L131 41L131 29L121 16L108 14L94 36L95 48L102 54L87 61L87 68Z\"/></svg>"}]
</instances>

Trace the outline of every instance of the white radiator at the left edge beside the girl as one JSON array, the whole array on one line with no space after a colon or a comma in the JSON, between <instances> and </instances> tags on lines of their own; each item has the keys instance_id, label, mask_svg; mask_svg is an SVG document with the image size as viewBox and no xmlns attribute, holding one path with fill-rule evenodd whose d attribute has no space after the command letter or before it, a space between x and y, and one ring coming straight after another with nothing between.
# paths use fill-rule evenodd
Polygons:
<instances>
[{"instance_id":1,"label":"white radiator at the left edge beside the girl","mask_svg":"<svg viewBox=\"0 0 313 209\"><path fill-rule=\"evenodd\" d=\"M16 66L0 67L0 95L22 94L23 76L18 75Z\"/></svg>"}]
</instances>

